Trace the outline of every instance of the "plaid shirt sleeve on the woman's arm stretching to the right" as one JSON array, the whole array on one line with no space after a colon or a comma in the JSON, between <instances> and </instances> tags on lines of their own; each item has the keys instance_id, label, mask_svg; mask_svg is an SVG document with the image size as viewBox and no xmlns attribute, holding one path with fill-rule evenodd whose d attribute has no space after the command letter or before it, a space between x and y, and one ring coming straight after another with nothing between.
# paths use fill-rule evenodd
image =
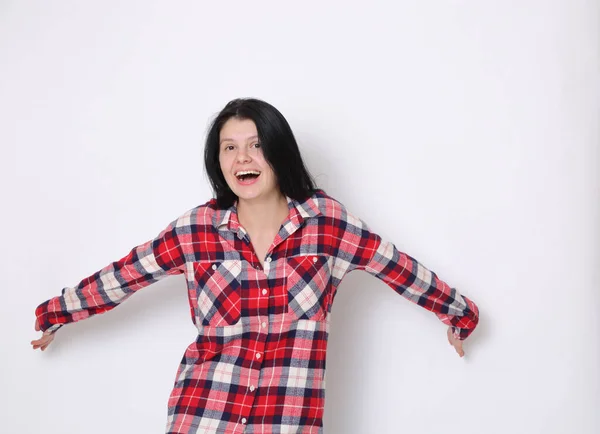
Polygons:
<instances>
[{"instance_id":1,"label":"plaid shirt sleeve on the woman's arm stretching to the right","mask_svg":"<svg viewBox=\"0 0 600 434\"><path fill-rule=\"evenodd\" d=\"M452 327L456 338L464 340L473 332L479 321L475 303L416 259L398 251L394 244L382 240L343 206L340 218L344 230L334 267L342 274L340 279L353 270L365 270L403 297L434 312Z\"/></svg>"}]
</instances>

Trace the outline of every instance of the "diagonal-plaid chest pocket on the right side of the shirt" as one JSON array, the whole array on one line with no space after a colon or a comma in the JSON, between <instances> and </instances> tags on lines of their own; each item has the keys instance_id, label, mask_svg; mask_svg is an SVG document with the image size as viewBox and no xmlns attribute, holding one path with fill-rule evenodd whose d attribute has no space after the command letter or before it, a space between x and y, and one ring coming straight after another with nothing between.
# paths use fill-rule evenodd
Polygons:
<instances>
[{"instance_id":1,"label":"diagonal-plaid chest pocket on the right side of the shirt","mask_svg":"<svg viewBox=\"0 0 600 434\"><path fill-rule=\"evenodd\" d=\"M286 259L288 312L296 319L320 321L327 315L331 260L331 257L323 255Z\"/></svg>"}]
</instances>

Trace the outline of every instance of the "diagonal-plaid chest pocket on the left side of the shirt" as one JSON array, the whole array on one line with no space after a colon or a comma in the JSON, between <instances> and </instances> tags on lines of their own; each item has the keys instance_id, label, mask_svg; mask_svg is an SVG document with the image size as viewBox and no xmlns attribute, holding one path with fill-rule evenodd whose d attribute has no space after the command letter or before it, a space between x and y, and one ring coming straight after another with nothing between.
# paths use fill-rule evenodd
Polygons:
<instances>
[{"instance_id":1,"label":"diagonal-plaid chest pocket on the left side of the shirt","mask_svg":"<svg viewBox=\"0 0 600 434\"><path fill-rule=\"evenodd\" d=\"M234 325L241 319L242 261L194 263L197 310L204 326Z\"/></svg>"}]
</instances>

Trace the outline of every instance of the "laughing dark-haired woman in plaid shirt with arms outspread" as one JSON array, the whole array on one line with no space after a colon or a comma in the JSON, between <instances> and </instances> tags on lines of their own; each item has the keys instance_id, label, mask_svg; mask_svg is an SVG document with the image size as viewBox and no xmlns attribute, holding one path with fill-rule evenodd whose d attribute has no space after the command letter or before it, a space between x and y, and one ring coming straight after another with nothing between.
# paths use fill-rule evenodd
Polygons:
<instances>
[{"instance_id":1,"label":"laughing dark-haired woman in plaid shirt with arms outspread","mask_svg":"<svg viewBox=\"0 0 600 434\"><path fill-rule=\"evenodd\" d=\"M204 162L216 198L36 309L44 350L64 324L184 274L198 337L168 402L167 433L322 433L329 315L344 276L365 270L462 341L477 306L316 189L283 115L229 102Z\"/></svg>"}]
</instances>

